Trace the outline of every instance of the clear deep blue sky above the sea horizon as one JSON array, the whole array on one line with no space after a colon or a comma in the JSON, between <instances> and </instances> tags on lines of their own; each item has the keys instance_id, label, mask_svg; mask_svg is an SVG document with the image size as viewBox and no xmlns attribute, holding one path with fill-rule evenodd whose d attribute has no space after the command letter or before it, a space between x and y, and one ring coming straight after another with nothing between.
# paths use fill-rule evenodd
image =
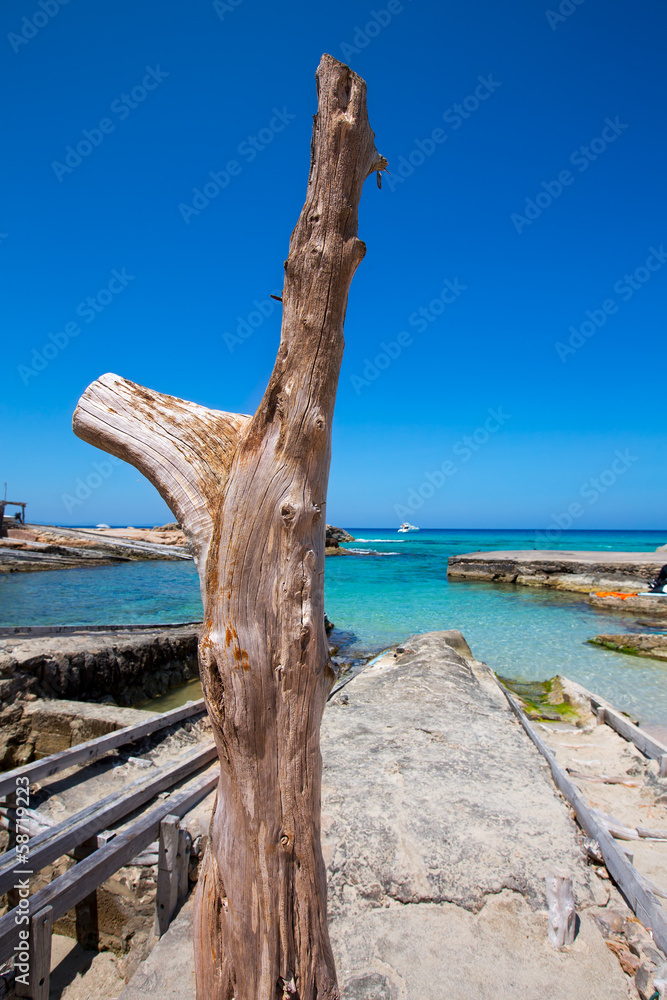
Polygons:
<instances>
[{"instance_id":1,"label":"clear deep blue sky above the sea horizon","mask_svg":"<svg viewBox=\"0 0 667 1000\"><path fill-rule=\"evenodd\" d=\"M171 519L71 431L103 372L256 406L327 51L366 79L392 171L362 198L329 520L545 528L575 504L573 527L665 526L667 11L561 10L8 0L10 499L56 523Z\"/></svg>"}]
</instances>

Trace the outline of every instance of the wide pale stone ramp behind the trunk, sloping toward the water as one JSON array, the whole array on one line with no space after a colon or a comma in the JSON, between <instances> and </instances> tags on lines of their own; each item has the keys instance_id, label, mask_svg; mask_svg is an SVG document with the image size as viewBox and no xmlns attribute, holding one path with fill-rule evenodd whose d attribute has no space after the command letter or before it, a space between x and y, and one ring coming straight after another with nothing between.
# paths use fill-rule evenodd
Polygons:
<instances>
[{"instance_id":1,"label":"wide pale stone ramp behind the trunk, sloping toward the water","mask_svg":"<svg viewBox=\"0 0 667 1000\"><path fill-rule=\"evenodd\" d=\"M324 715L322 840L343 997L627 1000L587 912L608 890L495 681L458 632L405 649ZM581 917L563 952L547 939L552 867L571 873ZM189 920L184 910L122 1000L193 1000Z\"/></svg>"}]
</instances>

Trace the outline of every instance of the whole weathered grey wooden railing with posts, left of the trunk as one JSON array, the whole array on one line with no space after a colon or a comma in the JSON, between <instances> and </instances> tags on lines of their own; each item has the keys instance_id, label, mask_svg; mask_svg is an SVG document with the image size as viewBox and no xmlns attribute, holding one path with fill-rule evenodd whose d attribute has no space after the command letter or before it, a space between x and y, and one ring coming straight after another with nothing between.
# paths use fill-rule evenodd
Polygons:
<instances>
[{"instance_id":1,"label":"whole weathered grey wooden railing with posts, left of the trunk","mask_svg":"<svg viewBox=\"0 0 667 1000\"><path fill-rule=\"evenodd\" d=\"M56 774L74 764L87 763L203 712L203 700L191 702L146 722L15 768L0 777L0 794L9 797L14 793L19 787L18 779L21 779L21 787L27 787L26 779L32 784L38 778ZM176 761L158 767L150 775L31 837L27 852L25 845L17 845L0 857L0 895L18 889L20 897L18 904L0 917L0 964L14 959L17 997L48 1000L54 922L70 910L77 910L119 868L130 863L156 839L155 930L158 935L164 933L188 890L191 840L183 817L213 791L218 775L213 743L188 751ZM188 783L174 791L186 779L190 779ZM167 797L162 802L122 832L115 834L108 829L165 791ZM29 895L31 876L65 854L80 860Z\"/></svg>"}]
</instances>

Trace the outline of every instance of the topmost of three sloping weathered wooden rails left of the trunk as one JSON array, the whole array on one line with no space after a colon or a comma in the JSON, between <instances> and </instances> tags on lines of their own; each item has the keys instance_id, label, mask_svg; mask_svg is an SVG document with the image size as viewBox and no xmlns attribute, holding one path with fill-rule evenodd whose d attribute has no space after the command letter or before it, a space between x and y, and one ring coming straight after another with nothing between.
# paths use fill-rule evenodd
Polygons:
<instances>
[{"instance_id":1,"label":"topmost of three sloping weathered wooden rails left of the trunk","mask_svg":"<svg viewBox=\"0 0 667 1000\"><path fill-rule=\"evenodd\" d=\"M201 715L205 711L204 699L200 698L198 701L190 701L179 708L173 708L170 712L153 715L146 722L125 726L124 729L117 729L113 733L98 736L97 739L88 740L86 743L79 743L75 747L61 750L60 753L54 753L50 757L43 757L32 764L16 767L13 771L7 771L0 776L0 796L14 791L16 779L19 777L27 777L32 784L33 781L57 774L58 771L63 771L66 767L95 760L96 757L101 757L109 750L114 750L125 743L132 743L143 736L149 736L167 726L173 726L174 723L188 719L192 715Z\"/></svg>"}]
</instances>

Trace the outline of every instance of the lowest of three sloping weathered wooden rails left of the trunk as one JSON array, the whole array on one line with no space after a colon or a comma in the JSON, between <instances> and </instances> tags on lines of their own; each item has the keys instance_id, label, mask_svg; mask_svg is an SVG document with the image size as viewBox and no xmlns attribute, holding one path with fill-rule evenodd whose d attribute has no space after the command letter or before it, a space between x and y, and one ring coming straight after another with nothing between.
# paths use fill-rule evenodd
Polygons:
<instances>
[{"instance_id":1,"label":"lowest of three sloping weathered wooden rails left of the trunk","mask_svg":"<svg viewBox=\"0 0 667 1000\"><path fill-rule=\"evenodd\" d=\"M219 769L211 769L194 784L170 795L164 802L146 816L134 823L128 830L91 854L89 858L80 861L49 885L39 889L31 898L31 908L41 910L45 906L53 907L53 920L64 916L76 904L84 899L93 889L102 885L114 872L126 865L157 836L160 823L165 816L173 813L184 816L193 806L200 802L218 784ZM30 875L30 872L24 873ZM18 910L15 907L3 917L0 917L0 962L6 961L12 954L17 943L18 927L15 917Z\"/></svg>"}]
</instances>

